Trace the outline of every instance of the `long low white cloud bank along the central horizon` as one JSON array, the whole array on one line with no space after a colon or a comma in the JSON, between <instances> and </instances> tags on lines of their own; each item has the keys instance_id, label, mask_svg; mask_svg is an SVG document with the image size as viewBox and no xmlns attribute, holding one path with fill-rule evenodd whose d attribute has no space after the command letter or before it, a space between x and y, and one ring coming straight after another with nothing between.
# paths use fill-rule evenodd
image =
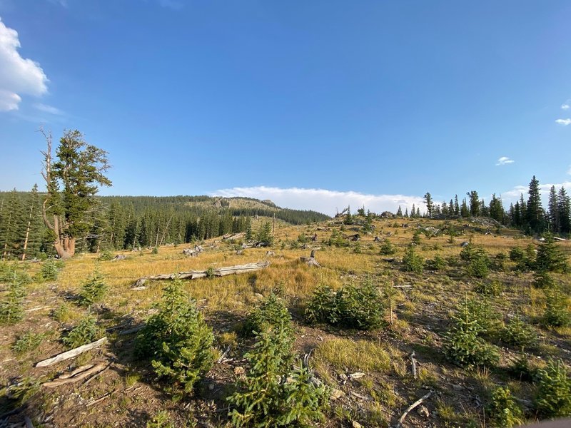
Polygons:
<instances>
[{"instance_id":1,"label":"long low white cloud bank along the central horizon","mask_svg":"<svg viewBox=\"0 0 571 428\"><path fill-rule=\"evenodd\" d=\"M256 186L248 188L229 188L216 190L212 193L216 196L243 196L256 199L270 199L276 205L284 208L294 208L298 210L315 210L328 215L335 215L335 210L343 210L348 205L355 212L365 205L365 210L375 213L391 211L396 213L398 206L405 211L405 208L415 208L424 210L425 205L421 196L411 195L368 195L358 192L338 192L325 189L304 189L304 188L273 188L266 186Z\"/></svg>"}]
</instances>

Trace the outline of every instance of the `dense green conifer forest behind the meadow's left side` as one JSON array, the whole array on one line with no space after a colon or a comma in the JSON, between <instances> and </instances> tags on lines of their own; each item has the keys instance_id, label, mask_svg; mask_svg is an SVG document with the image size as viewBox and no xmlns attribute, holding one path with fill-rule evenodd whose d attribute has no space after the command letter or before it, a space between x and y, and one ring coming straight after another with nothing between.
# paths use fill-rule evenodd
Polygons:
<instances>
[{"instance_id":1,"label":"dense green conifer forest behind the meadow's left side","mask_svg":"<svg viewBox=\"0 0 571 428\"><path fill-rule=\"evenodd\" d=\"M53 255L54 234L44 226L45 193L0 192L1 258ZM292 224L328 218L315 211L228 208L227 199L209 196L106 196L96 198L89 232L77 241L79 251L121 250L182 244L246 230L251 218L273 216ZM201 204L202 203L202 204Z\"/></svg>"}]
</instances>

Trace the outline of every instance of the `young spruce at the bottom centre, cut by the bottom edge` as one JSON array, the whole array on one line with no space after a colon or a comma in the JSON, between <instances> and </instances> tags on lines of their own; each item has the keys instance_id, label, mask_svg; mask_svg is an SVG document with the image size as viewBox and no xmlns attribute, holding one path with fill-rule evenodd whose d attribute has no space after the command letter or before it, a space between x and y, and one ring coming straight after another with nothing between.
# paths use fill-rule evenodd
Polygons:
<instances>
[{"instance_id":1,"label":"young spruce at the bottom centre, cut by the bottom edge","mask_svg":"<svg viewBox=\"0 0 571 428\"><path fill-rule=\"evenodd\" d=\"M311 372L292 365L293 336L283 325L266 325L245 355L250 365L238 391L228 397L234 427L309 426L323 420L328 390L316 386Z\"/></svg>"}]
</instances>

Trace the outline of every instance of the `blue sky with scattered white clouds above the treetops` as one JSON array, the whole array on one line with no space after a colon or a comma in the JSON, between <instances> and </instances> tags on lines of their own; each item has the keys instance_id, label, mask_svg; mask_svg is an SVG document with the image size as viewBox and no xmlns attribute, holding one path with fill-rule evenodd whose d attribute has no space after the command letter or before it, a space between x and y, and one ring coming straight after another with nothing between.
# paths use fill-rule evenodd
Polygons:
<instances>
[{"instance_id":1,"label":"blue sky with scattered white clouds above the treetops","mask_svg":"<svg viewBox=\"0 0 571 428\"><path fill-rule=\"evenodd\" d=\"M43 125L109 152L102 194L335 213L509 201L534 174L571 191L569 1L0 0L0 19L0 190L41 185Z\"/></svg>"}]
</instances>

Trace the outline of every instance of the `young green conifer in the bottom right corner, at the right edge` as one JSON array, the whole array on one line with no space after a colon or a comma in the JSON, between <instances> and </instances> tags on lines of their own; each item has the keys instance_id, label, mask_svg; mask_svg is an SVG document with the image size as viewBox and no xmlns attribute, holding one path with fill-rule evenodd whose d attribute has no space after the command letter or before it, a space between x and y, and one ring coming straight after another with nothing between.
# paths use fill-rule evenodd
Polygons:
<instances>
[{"instance_id":1,"label":"young green conifer in the bottom right corner, at the right edge","mask_svg":"<svg viewBox=\"0 0 571 428\"><path fill-rule=\"evenodd\" d=\"M547 362L537 370L535 406L543 417L571 416L571 379L561 360Z\"/></svg>"}]
</instances>

